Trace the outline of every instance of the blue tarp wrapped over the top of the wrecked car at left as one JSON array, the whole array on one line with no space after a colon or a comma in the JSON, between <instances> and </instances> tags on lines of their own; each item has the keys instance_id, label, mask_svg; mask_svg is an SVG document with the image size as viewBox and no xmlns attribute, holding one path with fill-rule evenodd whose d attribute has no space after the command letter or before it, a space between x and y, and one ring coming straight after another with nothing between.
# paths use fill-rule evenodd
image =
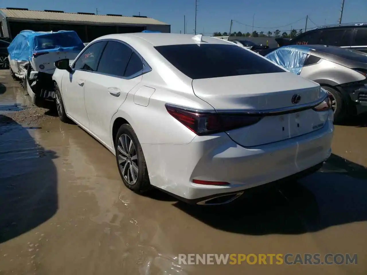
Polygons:
<instances>
[{"instance_id":1,"label":"blue tarp wrapped over the top of the wrecked car at left","mask_svg":"<svg viewBox=\"0 0 367 275\"><path fill-rule=\"evenodd\" d=\"M8 52L10 59L28 62L36 52L80 52L83 48L83 42L73 30L58 32L23 30L10 43Z\"/></svg>"}]
</instances>

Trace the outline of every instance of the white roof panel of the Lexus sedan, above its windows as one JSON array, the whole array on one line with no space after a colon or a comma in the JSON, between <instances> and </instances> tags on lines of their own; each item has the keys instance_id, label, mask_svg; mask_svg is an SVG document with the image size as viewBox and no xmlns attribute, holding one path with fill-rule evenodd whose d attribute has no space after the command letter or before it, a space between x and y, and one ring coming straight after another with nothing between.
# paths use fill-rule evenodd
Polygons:
<instances>
[{"instance_id":1,"label":"white roof panel of the Lexus sedan, above its windows","mask_svg":"<svg viewBox=\"0 0 367 275\"><path fill-rule=\"evenodd\" d=\"M149 42L153 45L153 47L156 46L164 46L164 45L182 45L182 44L195 44L198 43L198 41L194 40L195 37L194 34L180 34L180 33L130 33L130 34L108 34L106 36L100 37L101 39L106 38L115 38L115 39L121 39L123 40L126 36L134 36L142 38L143 40ZM197 35L197 37L199 37ZM97 38L99 39L99 38ZM232 44L226 40L223 39L217 39L210 36L202 36L204 43L210 43L210 44Z\"/></svg>"}]
</instances>

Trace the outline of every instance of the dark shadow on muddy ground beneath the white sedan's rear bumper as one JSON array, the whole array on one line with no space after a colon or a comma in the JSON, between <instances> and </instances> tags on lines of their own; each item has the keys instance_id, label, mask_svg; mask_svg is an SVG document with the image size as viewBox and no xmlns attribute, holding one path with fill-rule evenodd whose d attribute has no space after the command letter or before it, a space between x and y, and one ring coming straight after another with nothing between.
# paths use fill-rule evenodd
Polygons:
<instances>
[{"instance_id":1,"label":"dark shadow on muddy ground beneath the white sedan's rear bumper","mask_svg":"<svg viewBox=\"0 0 367 275\"><path fill-rule=\"evenodd\" d=\"M228 205L174 206L223 231L303 234L366 221L366 179L367 168L332 154L323 168L298 182L280 183Z\"/></svg>"}]
</instances>

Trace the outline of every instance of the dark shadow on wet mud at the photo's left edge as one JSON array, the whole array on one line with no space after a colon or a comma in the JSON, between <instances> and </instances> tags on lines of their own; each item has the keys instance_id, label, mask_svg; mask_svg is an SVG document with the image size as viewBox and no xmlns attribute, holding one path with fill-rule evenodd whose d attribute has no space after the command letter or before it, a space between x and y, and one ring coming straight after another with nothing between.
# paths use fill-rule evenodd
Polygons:
<instances>
[{"instance_id":1,"label":"dark shadow on wet mud at the photo's left edge","mask_svg":"<svg viewBox=\"0 0 367 275\"><path fill-rule=\"evenodd\" d=\"M57 212L53 158L55 152L41 147L28 128L0 115L0 243L34 229Z\"/></svg>"}]
</instances>

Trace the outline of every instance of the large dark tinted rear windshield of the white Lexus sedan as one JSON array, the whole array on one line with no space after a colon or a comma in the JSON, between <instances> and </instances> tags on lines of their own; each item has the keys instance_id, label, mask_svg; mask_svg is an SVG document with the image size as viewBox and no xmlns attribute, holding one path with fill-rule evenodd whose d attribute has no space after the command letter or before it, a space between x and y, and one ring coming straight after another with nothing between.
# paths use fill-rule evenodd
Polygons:
<instances>
[{"instance_id":1,"label":"large dark tinted rear windshield of the white Lexus sedan","mask_svg":"<svg viewBox=\"0 0 367 275\"><path fill-rule=\"evenodd\" d=\"M192 79L286 72L237 45L187 44L155 48L168 62Z\"/></svg>"}]
</instances>

